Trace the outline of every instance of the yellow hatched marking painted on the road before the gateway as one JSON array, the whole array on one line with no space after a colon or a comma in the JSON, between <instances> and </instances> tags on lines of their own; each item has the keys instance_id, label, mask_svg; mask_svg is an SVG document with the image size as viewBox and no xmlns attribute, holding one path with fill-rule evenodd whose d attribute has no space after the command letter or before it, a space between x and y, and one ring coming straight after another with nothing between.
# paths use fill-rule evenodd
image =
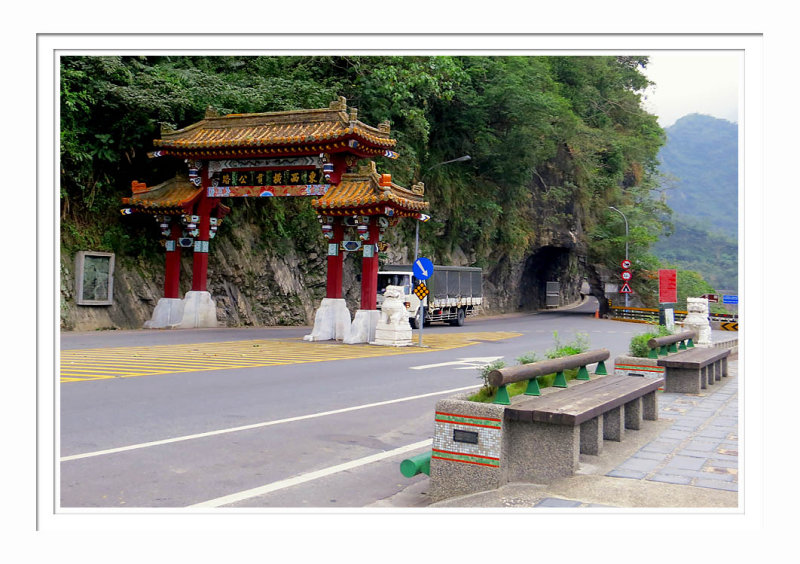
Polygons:
<instances>
[{"instance_id":1,"label":"yellow hatched marking painted on the road before the gateway","mask_svg":"<svg viewBox=\"0 0 800 564\"><path fill-rule=\"evenodd\" d=\"M352 360L455 349L481 341L500 341L522 333L447 333L426 335L423 347L344 345L303 340L248 340L151 347L61 351L61 382L85 382L231 368Z\"/></svg>"}]
</instances>

